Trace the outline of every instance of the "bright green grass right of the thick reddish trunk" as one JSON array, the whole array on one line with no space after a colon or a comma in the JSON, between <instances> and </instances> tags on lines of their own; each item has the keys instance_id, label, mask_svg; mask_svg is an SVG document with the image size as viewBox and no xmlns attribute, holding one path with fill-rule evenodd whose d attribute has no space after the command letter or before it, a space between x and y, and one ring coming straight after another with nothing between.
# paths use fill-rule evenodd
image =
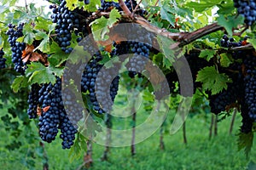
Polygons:
<instances>
[{"instance_id":1,"label":"bright green grass right of the thick reddish trunk","mask_svg":"<svg viewBox=\"0 0 256 170\"><path fill-rule=\"evenodd\" d=\"M210 117L207 118L209 120ZM235 129L238 131L240 117ZM110 160L102 162L103 147L94 144L94 166L96 169L246 169L249 161L256 161L253 150L247 160L243 152L237 151L236 135L228 134L230 118L218 124L218 136L208 139L207 122L197 117L187 120L188 144L183 144L182 132L165 135L166 150L159 150L159 133L143 143L137 144L137 155L131 157L130 147L113 148Z\"/></svg>"}]
</instances>

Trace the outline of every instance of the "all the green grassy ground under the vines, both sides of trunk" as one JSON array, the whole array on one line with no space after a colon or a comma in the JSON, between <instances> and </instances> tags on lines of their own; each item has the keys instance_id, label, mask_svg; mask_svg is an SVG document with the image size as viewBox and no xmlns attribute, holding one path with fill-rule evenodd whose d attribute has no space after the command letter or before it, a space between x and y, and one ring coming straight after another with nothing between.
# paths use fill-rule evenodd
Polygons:
<instances>
[{"instance_id":1,"label":"all the green grassy ground under the vines, both sides of trunk","mask_svg":"<svg viewBox=\"0 0 256 170\"><path fill-rule=\"evenodd\" d=\"M242 151L237 151L236 133L240 126L241 117L236 116L234 132L229 135L230 117L218 123L218 136L208 139L208 129L211 116L202 118L202 115L187 119L188 144L183 144L181 130L170 135L166 133L164 141L166 150L159 150L159 131L153 136L136 145L136 156L131 157L131 148L112 148L109 161L100 161L104 147L93 144L92 170L97 169L256 169L256 151L252 150L249 159L246 159ZM0 127L3 122L0 123ZM36 127L33 128L37 133ZM27 169L26 158L29 157L30 144L21 146L21 150L6 150L3 145L13 138L9 132L0 129L0 167L1 169ZM29 133L29 132L27 132ZM22 137L21 137L22 138ZM255 142L254 142L255 145ZM82 158L70 162L68 150L61 149L61 140L56 139L52 144L45 144L49 157L49 169L76 169L82 163ZM42 158L37 155L33 168L42 169Z\"/></svg>"}]
</instances>

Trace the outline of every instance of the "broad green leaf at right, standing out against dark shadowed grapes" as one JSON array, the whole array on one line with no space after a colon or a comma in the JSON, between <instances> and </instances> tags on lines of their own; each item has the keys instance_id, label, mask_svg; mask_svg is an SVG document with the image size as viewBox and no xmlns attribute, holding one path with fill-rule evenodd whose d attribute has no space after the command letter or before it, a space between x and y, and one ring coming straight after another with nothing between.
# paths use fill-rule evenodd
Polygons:
<instances>
[{"instance_id":1,"label":"broad green leaf at right, standing out against dark shadowed grapes","mask_svg":"<svg viewBox=\"0 0 256 170\"><path fill-rule=\"evenodd\" d=\"M211 90L212 94L218 94L223 89L227 89L228 82L232 82L224 73L218 73L215 66L207 66L198 71L196 82L202 82L204 90Z\"/></svg>"}]
</instances>

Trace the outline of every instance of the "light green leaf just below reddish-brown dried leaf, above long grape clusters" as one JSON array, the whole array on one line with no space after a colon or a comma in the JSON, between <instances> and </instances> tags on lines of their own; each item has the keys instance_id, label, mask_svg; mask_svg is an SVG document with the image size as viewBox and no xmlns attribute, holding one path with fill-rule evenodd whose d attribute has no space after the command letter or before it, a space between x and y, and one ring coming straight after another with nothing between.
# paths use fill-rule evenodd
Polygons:
<instances>
[{"instance_id":1,"label":"light green leaf just below reddish-brown dried leaf, above long grape clusters","mask_svg":"<svg viewBox=\"0 0 256 170\"><path fill-rule=\"evenodd\" d=\"M33 83L55 83L55 76L61 77L63 68L55 68L52 65L45 67L41 63L32 62L27 65L26 77L29 77L28 82Z\"/></svg>"}]
</instances>

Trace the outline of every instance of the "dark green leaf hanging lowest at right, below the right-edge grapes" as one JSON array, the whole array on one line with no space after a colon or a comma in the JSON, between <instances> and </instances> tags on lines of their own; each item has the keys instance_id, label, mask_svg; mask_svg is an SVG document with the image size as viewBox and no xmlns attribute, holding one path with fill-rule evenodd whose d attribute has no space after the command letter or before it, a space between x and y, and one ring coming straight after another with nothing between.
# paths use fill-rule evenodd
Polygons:
<instances>
[{"instance_id":1,"label":"dark green leaf hanging lowest at right, below the right-edge grapes","mask_svg":"<svg viewBox=\"0 0 256 170\"><path fill-rule=\"evenodd\" d=\"M246 156L248 157L253 147L253 132L251 133L239 133L237 139L238 150L244 149Z\"/></svg>"}]
</instances>

